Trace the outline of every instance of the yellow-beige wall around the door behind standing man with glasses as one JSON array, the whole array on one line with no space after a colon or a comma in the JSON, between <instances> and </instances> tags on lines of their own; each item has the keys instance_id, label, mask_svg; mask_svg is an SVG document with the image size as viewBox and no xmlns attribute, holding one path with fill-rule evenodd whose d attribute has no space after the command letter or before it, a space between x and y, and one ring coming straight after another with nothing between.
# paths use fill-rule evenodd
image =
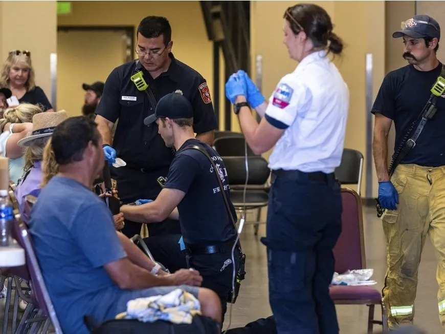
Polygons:
<instances>
[{"instance_id":1,"label":"yellow-beige wall around the door behind standing man with glasses","mask_svg":"<svg viewBox=\"0 0 445 334\"><path fill-rule=\"evenodd\" d=\"M207 79L213 96L213 47L207 38L198 1L73 1L72 7L71 14L58 16L59 26L134 26L135 42L142 18L148 15L167 17L172 28L174 56ZM223 65L221 74L224 74ZM224 91L220 108L224 108L222 97ZM224 115L220 115L219 122L224 127L222 119Z\"/></svg>"}]
</instances>

